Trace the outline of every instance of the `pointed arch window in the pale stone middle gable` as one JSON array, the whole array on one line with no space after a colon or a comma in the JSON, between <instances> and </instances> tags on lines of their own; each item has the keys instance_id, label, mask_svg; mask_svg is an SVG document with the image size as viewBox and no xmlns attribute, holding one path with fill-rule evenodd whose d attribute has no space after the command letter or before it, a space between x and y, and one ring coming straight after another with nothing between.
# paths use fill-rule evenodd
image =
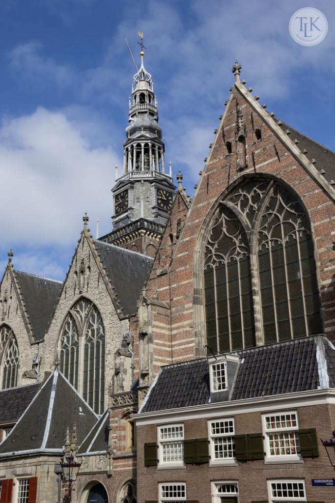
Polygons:
<instances>
[{"instance_id":1,"label":"pointed arch window in the pale stone middle gable","mask_svg":"<svg viewBox=\"0 0 335 503\"><path fill-rule=\"evenodd\" d=\"M81 298L70 309L59 342L60 370L97 412L104 410L105 332L98 308Z\"/></svg>"}]
</instances>

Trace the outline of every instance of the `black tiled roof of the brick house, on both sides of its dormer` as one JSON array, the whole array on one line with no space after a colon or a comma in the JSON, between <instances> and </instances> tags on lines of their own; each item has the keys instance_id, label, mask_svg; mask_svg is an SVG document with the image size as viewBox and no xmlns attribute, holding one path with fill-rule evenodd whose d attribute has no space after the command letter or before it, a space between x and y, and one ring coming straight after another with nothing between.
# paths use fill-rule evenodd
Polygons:
<instances>
[{"instance_id":1,"label":"black tiled roof of the brick house, on both sides of its dormer","mask_svg":"<svg viewBox=\"0 0 335 503\"><path fill-rule=\"evenodd\" d=\"M240 362L229 400L335 387L335 348L324 336L238 352ZM139 411L209 403L207 359L162 367Z\"/></svg>"}]
</instances>

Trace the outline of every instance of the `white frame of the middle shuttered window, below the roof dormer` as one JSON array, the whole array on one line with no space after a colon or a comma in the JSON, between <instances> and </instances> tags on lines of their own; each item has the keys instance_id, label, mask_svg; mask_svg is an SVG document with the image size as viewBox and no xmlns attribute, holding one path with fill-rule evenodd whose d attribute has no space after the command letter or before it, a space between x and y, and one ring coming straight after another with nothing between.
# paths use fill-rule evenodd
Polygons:
<instances>
[{"instance_id":1,"label":"white frame of the middle shuttered window, below the roof dormer","mask_svg":"<svg viewBox=\"0 0 335 503\"><path fill-rule=\"evenodd\" d=\"M218 432L213 432L213 427L214 428L220 428L223 429L224 431L222 433ZM233 437L235 435L235 424L234 424L234 418L233 417L219 417L217 419L211 419L208 421L208 438L209 438L209 445L210 445L210 465L223 465L223 464L237 464L236 458L235 458L235 443L233 440ZM222 439L222 440L221 440ZM218 443L216 444L215 441L218 440ZM222 450L221 452L223 454L227 453L227 456L223 457L215 457L217 454L217 450L215 449L215 446L217 445L218 448L220 448L220 442L221 442L221 447L224 449L226 448L225 452ZM230 456L230 452L233 454Z\"/></svg>"}]
</instances>

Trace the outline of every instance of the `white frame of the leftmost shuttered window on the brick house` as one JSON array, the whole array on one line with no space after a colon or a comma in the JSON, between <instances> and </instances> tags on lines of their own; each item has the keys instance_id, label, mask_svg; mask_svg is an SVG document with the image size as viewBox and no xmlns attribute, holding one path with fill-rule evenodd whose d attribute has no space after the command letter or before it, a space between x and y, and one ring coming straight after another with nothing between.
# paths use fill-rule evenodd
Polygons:
<instances>
[{"instance_id":1,"label":"white frame of the leftmost shuttered window on the brick house","mask_svg":"<svg viewBox=\"0 0 335 503\"><path fill-rule=\"evenodd\" d=\"M171 435L169 436L169 430ZM175 432L173 432L175 430ZM179 433L179 434L178 434ZM178 434L178 436L176 436ZM161 425L157 428L157 439L158 439L158 459L159 466L166 467L183 467L184 463L184 425L183 423L174 423L171 425ZM173 455L176 459L166 460L166 454L169 456L174 452Z\"/></svg>"}]
</instances>

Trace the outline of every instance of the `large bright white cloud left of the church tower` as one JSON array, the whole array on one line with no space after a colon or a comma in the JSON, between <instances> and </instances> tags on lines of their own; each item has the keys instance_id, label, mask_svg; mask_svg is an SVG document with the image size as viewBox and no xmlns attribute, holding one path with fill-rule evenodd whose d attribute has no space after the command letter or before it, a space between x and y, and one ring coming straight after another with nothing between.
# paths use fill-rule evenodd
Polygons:
<instances>
[{"instance_id":1,"label":"large bright white cloud left of the church tower","mask_svg":"<svg viewBox=\"0 0 335 503\"><path fill-rule=\"evenodd\" d=\"M0 129L2 248L20 243L68 246L82 228L85 212L92 229L111 230L116 154L91 147L63 113L39 108L31 116L5 118ZM94 232L95 234L95 232Z\"/></svg>"}]
</instances>

